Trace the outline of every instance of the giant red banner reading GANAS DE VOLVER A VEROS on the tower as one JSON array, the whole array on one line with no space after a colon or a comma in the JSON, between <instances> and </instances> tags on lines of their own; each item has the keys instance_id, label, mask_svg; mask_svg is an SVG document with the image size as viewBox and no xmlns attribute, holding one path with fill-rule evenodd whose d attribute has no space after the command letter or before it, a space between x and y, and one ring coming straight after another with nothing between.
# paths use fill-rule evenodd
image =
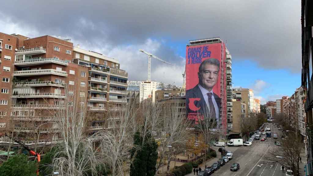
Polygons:
<instances>
[{"instance_id":1,"label":"giant red banner reading GANAS DE VOLVER A VEROS on the tower","mask_svg":"<svg viewBox=\"0 0 313 176\"><path fill-rule=\"evenodd\" d=\"M210 118L214 128L226 125L225 57L223 42L186 47L187 119L195 124Z\"/></svg>"}]
</instances>

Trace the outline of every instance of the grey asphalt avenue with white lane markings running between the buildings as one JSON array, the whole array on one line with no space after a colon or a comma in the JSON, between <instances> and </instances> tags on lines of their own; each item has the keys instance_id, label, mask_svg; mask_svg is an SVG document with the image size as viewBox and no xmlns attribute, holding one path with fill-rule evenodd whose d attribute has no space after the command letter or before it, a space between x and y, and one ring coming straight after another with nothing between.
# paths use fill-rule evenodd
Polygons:
<instances>
[{"instance_id":1,"label":"grey asphalt avenue with white lane markings running between the buildings","mask_svg":"<svg viewBox=\"0 0 313 176\"><path fill-rule=\"evenodd\" d=\"M275 146L275 139L273 139L273 134L277 134L280 138L280 134L282 133L277 129L277 127L274 127L272 123L269 123L265 126L271 128L272 137L268 137L265 141L254 140L252 142L252 146L249 147L227 147L226 150L233 152L233 159L226 163L223 167L218 169L218 171L216 171L212 175L285 176L285 172L282 172L280 164L267 161L263 158L264 153L266 153L269 148ZM263 136L264 135L261 135L261 138ZM230 166L233 163L239 163L240 169L238 171L230 171Z\"/></svg>"}]
</instances>

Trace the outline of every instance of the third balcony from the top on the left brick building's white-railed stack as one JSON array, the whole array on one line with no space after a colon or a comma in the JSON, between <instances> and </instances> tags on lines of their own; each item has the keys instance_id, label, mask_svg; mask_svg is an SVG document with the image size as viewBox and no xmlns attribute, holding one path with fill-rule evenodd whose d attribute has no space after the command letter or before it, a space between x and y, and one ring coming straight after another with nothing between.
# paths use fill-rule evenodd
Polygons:
<instances>
[{"instance_id":1,"label":"third balcony from the top on the left brick building's white-railed stack","mask_svg":"<svg viewBox=\"0 0 313 176\"><path fill-rule=\"evenodd\" d=\"M67 76L66 71L59 71L54 69L43 69L43 70L22 70L14 71L13 76L40 76L40 75L58 75Z\"/></svg>"}]
</instances>

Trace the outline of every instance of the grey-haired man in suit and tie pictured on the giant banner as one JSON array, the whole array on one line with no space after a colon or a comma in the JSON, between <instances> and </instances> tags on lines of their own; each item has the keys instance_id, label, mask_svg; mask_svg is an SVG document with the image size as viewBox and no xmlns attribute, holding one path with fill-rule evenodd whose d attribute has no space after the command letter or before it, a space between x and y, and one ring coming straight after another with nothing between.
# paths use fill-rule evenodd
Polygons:
<instances>
[{"instance_id":1,"label":"grey-haired man in suit and tie pictured on the giant banner","mask_svg":"<svg viewBox=\"0 0 313 176\"><path fill-rule=\"evenodd\" d=\"M187 113L198 113L219 125L221 98L213 92L218 82L220 63L217 59L204 60L199 66L199 83L186 92Z\"/></svg>"}]
</instances>

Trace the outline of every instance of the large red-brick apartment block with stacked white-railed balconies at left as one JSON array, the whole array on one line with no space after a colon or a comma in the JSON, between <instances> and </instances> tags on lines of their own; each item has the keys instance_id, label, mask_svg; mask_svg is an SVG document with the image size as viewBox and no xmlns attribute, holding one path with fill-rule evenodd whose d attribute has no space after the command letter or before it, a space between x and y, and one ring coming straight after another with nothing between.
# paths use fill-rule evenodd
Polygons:
<instances>
[{"instance_id":1,"label":"large red-brick apartment block with stacked white-railed balconies at left","mask_svg":"<svg viewBox=\"0 0 313 176\"><path fill-rule=\"evenodd\" d=\"M127 103L128 74L119 61L69 40L0 33L0 58L0 131L18 132L30 147L36 126L44 144L58 140L57 129L47 123L54 121L49 110L64 109L74 94L95 119L87 124L90 132L110 128L118 119L106 114Z\"/></svg>"}]
</instances>

